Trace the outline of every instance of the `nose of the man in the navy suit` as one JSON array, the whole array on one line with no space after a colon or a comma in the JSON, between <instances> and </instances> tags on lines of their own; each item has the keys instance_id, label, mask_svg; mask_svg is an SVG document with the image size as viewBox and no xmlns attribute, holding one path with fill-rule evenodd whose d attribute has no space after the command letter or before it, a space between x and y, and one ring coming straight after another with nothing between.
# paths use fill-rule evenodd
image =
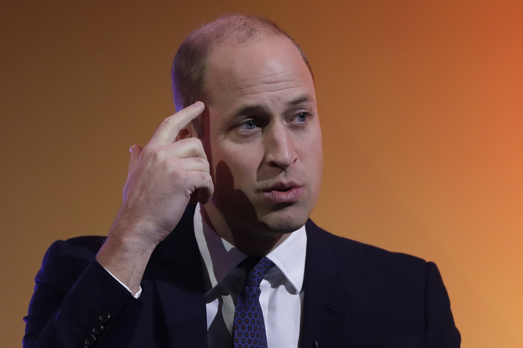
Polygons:
<instances>
[{"instance_id":1,"label":"nose of the man in the navy suit","mask_svg":"<svg viewBox=\"0 0 523 348\"><path fill-rule=\"evenodd\" d=\"M267 129L265 136L265 159L271 166L287 169L298 159L294 139L283 123L276 123Z\"/></svg>"}]
</instances>

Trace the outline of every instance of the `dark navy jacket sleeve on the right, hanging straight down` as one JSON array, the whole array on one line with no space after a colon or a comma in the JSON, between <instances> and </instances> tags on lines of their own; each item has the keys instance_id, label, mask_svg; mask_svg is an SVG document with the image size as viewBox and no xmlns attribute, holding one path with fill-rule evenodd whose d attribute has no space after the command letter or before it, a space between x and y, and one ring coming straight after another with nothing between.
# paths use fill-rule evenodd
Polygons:
<instances>
[{"instance_id":1,"label":"dark navy jacket sleeve on the right, hanging straight down","mask_svg":"<svg viewBox=\"0 0 523 348\"><path fill-rule=\"evenodd\" d=\"M461 337L450 310L450 301L434 262L427 263L425 286L425 347L458 348Z\"/></svg>"}]
</instances>

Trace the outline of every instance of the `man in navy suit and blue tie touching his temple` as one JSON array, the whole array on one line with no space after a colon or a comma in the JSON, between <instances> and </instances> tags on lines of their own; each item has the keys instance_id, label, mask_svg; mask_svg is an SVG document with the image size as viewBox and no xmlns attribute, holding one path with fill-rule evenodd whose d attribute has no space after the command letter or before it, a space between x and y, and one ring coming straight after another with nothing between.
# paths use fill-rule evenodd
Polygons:
<instances>
[{"instance_id":1,"label":"man in navy suit and blue tie touching his temple","mask_svg":"<svg viewBox=\"0 0 523 348\"><path fill-rule=\"evenodd\" d=\"M173 91L178 112L131 147L107 238L49 248L24 347L460 345L434 263L308 220L320 119L287 34L214 21L180 46Z\"/></svg>"}]
</instances>

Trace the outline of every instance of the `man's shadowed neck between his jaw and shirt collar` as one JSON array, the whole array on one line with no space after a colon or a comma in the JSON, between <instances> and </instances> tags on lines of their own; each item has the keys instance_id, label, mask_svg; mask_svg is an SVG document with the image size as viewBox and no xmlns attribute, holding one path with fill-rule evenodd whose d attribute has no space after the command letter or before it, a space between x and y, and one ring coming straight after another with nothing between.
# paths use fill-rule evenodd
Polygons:
<instances>
[{"instance_id":1,"label":"man's shadowed neck between his jaw and shirt collar","mask_svg":"<svg viewBox=\"0 0 523 348\"><path fill-rule=\"evenodd\" d=\"M247 256L265 256L290 235L290 233L270 233L235 225L225 219L212 202L200 207L202 218L211 229Z\"/></svg>"}]
</instances>

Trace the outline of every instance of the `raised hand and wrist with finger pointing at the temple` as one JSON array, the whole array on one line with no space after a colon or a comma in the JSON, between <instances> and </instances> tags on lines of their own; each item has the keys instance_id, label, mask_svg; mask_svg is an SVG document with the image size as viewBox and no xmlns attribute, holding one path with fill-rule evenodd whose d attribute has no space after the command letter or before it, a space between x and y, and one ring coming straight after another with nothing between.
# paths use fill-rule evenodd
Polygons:
<instances>
[{"instance_id":1,"label":"raised hand and wrist with finger pointing at the temple","mask_svg":"<svg viewBox=\"0 0 523 348\"><path fill-rule=\"evenodd\" d=\"M123 205L96 259L133 293L154 247L176 227L191 197L206 203L212 196L201 141L176 141L179 131L203 109L203 103L196 102L165 118L143 149L130 149Z\"/></svg>"}]
</instances>

